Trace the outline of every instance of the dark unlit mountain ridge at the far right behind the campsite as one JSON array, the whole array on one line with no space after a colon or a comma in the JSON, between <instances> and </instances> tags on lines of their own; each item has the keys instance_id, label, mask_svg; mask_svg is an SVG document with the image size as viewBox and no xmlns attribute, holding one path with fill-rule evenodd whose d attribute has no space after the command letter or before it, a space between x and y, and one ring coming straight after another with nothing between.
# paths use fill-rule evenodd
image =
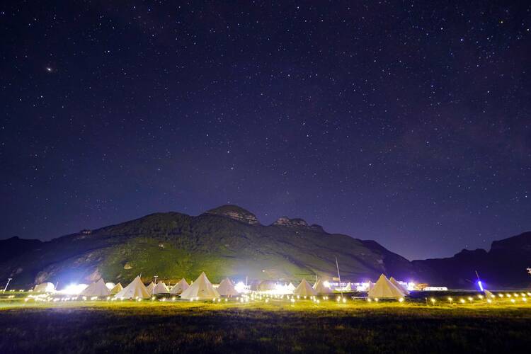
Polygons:
<instances>
[{"instance_id":1,"label":"dark unlit mountain ridge at the far right behind the campsite","mask_svg":"<svg viewBox=\"0 0 531 354\"><path fill-rule=\"evenodd\" d=\"M450 258L411 262L417 279L452 288L469 289L476 271L486 288L529 288L531 274L531 232L493 241L490 251L462 250Z\"/></svg>"}]
</instances>

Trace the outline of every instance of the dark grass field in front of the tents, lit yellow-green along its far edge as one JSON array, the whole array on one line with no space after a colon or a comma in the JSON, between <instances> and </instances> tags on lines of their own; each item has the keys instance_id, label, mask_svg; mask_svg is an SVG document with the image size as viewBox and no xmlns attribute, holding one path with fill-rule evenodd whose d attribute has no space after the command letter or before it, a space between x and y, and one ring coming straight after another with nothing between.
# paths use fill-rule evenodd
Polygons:
<instances>
[{"instance_id":1,"label":"dark grass field in front of the tents, lit yellow-green along its far edge","mask_svg":"<svg viewBox=\"0 0 531 354\"><path fill-rule=\"evenodd\" d=\"M0 353L530 353L531 304L263 299L24 302L0 297ZM464 299L467 299L464 297ZM421 301L422 300L422 301Z\"/></svg>"}]
</instances>

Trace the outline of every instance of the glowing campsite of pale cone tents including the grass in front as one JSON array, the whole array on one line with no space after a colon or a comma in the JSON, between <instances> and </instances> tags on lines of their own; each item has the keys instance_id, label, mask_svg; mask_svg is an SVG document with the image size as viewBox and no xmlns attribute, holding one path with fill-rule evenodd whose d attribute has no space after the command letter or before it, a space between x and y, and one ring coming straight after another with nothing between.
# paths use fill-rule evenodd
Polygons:
<instances>
[{"instance_id":1,"label":"glowing campsite of pale cone tents including the grass in front","mask_svg":"<svg viewBox=\"0 0 531 354\"><path fill-rule=\"evenodd\" d=\"M230 279L216 288L201 273L190 285L181 280L166 287L166 294L154 294L164 282L147 293L139 277L109 296L83 295L105 293L103 280L71 297L5 292L0 352L523 353L531 345L531 292L415 291L403 297L384 275L365 294L333 292L325 284L314 284L325 287L320 293L304 279L291 294L239 293ZM176 287L181 296L171 293ZM382 298L370 296L376 294ZM24 341L27 333L45 340Z\"/></svg>"}]
</instances>

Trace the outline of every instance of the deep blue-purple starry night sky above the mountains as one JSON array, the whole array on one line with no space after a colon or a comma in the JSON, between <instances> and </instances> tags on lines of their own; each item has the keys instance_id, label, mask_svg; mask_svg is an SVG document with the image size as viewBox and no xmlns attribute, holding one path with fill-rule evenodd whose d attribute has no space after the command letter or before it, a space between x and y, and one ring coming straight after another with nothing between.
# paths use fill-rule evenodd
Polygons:
<instances>
[{"instance_id":1,"label":"deep blue-purple starry night sky above the mountains","mask_svg":"<svg viewBox=\"0 0 531 354\"><path fill-rule=\"evenodd\" d=\"M529 1L126 2L0 5L0 238L226 203L409 259L531 230Z\"/></svg>"}]
</instances>

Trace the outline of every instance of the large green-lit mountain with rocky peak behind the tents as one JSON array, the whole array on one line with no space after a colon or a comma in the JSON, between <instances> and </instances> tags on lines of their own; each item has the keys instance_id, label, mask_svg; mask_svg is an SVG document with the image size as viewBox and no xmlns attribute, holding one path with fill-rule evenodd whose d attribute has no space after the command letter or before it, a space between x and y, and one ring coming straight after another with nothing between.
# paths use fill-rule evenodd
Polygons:
<instances>
[{"instance_id":1,"label":"large green-lit mountain with rocky peak behind the tents","mask_svg":"<svg viewBox=\"0 0 531 354\"><path fill-rule=\"evenodd\" d=\"M7 242L0 241L0 249ZM128 282L142 274L175 282L205 271L212 281L314 280L336 276L336 261L346 280L414 275L411 263L375 241L329 234L302 219L280 217L262 225L253 213L224 205L202 215L178 212L147 215L93 231L42 242L38 249L0 261L0 279L13 285L38 282L91 282L103 277ZM60 287L60 285L59 285Z\"/></svg>"}]
</instances>

